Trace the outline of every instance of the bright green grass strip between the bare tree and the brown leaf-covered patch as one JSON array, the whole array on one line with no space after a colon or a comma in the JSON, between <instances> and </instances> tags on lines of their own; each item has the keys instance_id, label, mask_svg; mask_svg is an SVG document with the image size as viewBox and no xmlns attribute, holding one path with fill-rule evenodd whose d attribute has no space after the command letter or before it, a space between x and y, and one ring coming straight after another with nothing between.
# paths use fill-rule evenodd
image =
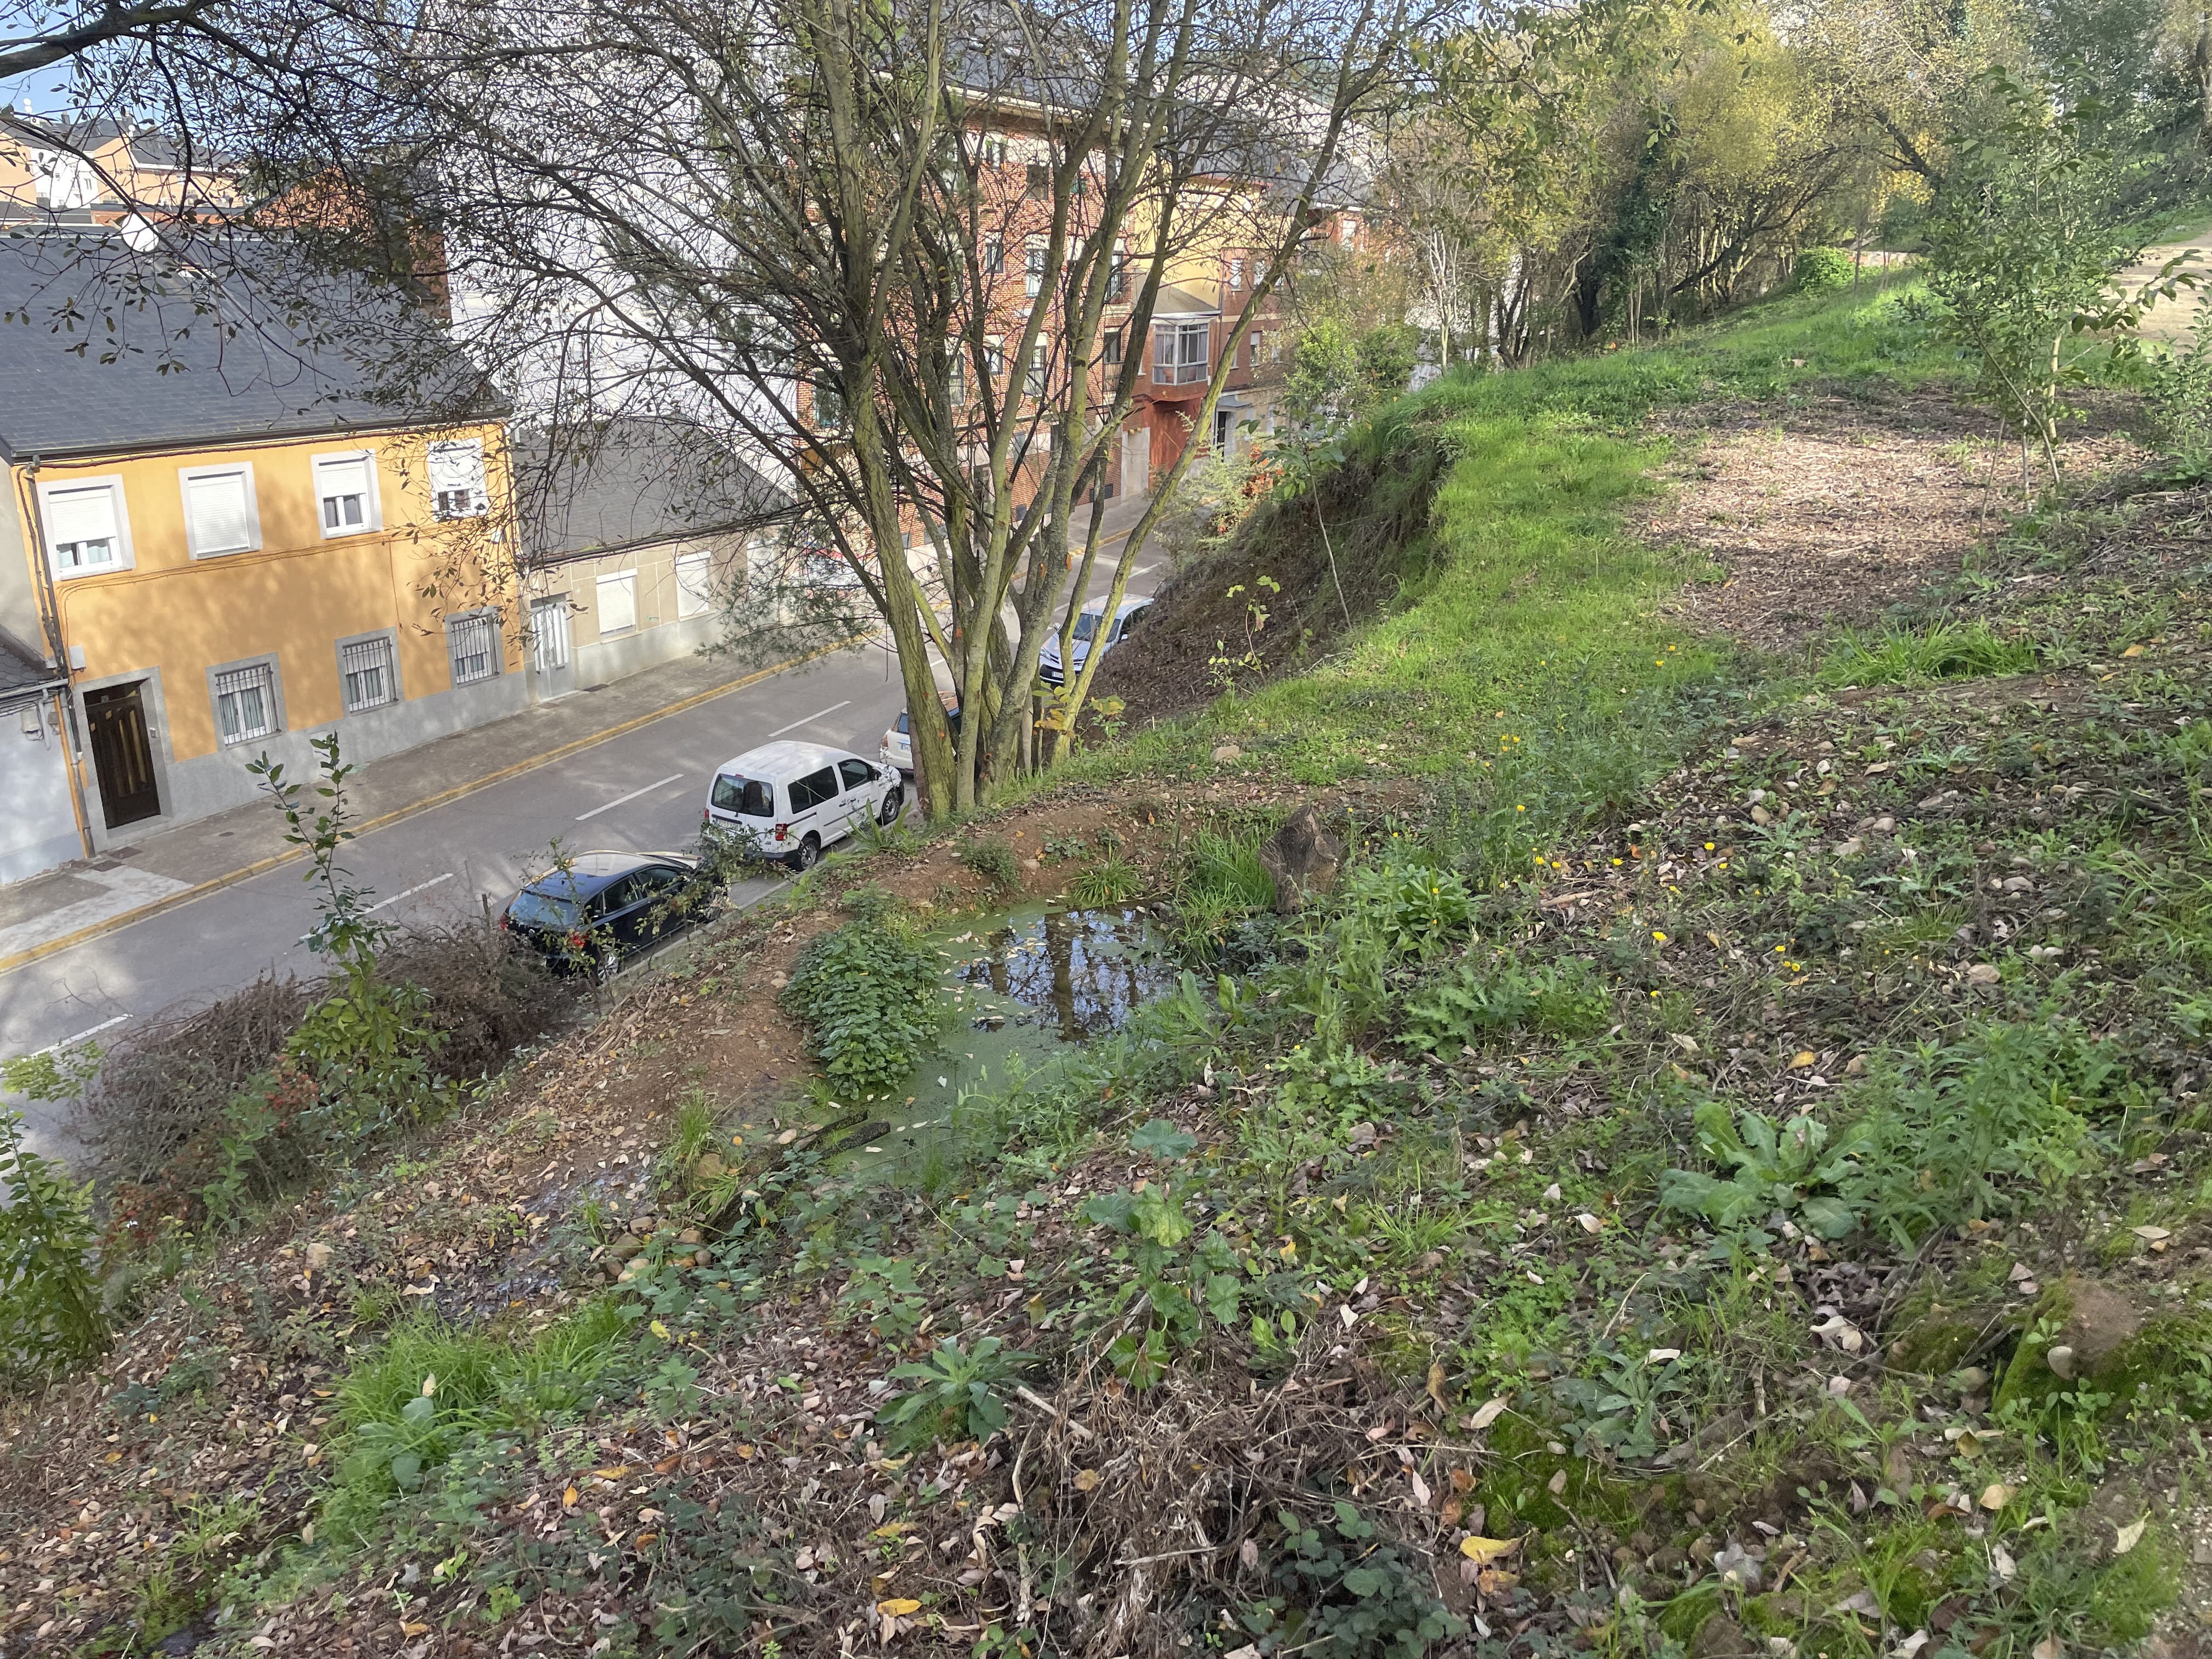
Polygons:
<instances>
[{"instance_id":1,"label":"bright green grass strip between the bare tree and the brown leaf-covered patch","mask_svg":"<svg viewBox=\"0 0 2212 1659\"><path fill-rule=\"evenodd\" d=\"M1462 369L1354 440L1378 509L1427 524L1398 606L1314 672L1225 697L1075 761L1077 774L1192 774L1219 741L1285 781L1475 772L1506 814L1619 805L1725 695L1723 646L1657 615L1701 562L1621 529L1666 440L1648 418L1710 398L1916 385L1951 365L1893 296L1783 299L1679 341L1515 374ZM1433 489L1427 509L1418 491ZM1489 807L1484 807L1489 810Z\"/></svg>"}]
</instances>

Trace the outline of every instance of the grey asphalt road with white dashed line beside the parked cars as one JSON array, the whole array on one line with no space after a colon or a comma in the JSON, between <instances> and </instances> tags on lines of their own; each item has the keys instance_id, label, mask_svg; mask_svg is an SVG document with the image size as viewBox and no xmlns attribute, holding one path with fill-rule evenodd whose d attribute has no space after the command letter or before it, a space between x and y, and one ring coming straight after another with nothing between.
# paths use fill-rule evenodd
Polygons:
<instances>
[{"instance_id":1,"label":"grey asphalt road with white dashed line beside the parked cars","mask_svg":"<svg viewBox=\"0 0 2212 1659\"><path fill-rule=\"evenodd\" d=\"M345 865L396 922L482 916L549 863L560 836L573 852L681 849L699 832L717 765L774 737L832 743L876 759L905 706L887 655L874 646L794 668L699 708L668 714L582 754L507 779L354 841ZM739 902L772 891L748 883ZM321 971L296 940L314 922L301 865L148 916L0 978L0 1053L119 1029L181 995L215 998L259 973ZM62 1113L24 1110L31 1144L71 1150Z\"/></svg>"}]
</instances>

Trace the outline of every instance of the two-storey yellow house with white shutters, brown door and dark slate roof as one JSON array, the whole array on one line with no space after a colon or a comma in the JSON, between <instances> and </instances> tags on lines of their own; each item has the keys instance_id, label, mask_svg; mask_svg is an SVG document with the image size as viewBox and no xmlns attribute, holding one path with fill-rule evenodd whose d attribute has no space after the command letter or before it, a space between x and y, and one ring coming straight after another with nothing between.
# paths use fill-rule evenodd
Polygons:
<instances>
[{"instance_id":1,"label":"two-storey yellow house with white shutters, brown door and dark slate roof","mask_svg":"<svg viewBox=\"0 0 2212 1659\"><path fill-rule=\"evenodd\" d=\"M405 420L192 276L71 352L53 270L0 243L31 314L0 330L0 644L66 684L44 759L0 732L0 880L250 801L246 763L307 772L314 734L374 761L529 701L498 418Z\"/></svg>"}]
</instances>

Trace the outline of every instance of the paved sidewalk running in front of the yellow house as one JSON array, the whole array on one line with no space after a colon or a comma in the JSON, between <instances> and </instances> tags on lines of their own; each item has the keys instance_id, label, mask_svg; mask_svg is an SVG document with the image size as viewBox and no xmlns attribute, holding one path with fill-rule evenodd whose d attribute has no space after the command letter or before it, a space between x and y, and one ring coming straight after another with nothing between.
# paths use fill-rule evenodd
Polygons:
<instances>
[{"instance_id":1,"label":"paved sidewalk running in front of the yellow house","mask_svg":"<svg viewBox=\"0 0 2212 1659\"><path fill-rule=\"evenodd\" d=\"M392 754L347 779L352 827L425 812L790 666L739 672L723 657L684 657ZM4 885L0 973L296 856L276 814L254 803Z\"/></svg>"}]
</instances>

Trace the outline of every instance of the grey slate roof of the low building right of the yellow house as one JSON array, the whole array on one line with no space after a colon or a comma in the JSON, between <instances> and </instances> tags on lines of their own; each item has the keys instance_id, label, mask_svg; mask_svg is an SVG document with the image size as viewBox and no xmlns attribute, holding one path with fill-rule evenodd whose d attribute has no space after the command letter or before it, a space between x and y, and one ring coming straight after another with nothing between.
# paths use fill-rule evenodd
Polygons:
<instances>
[{"instance_id":1,"label":"grey slate roof of the low building right of the yellow house","mask_svg":"<svg viewBox=\"0 0 2212 1659\"><path fill-rule=\"evenodd\" d=\"M792 511L787 491L670 420L608 420L557 440L515 434L511 453L535 560L741 531Z\"/></svg>"}]
</instances>

